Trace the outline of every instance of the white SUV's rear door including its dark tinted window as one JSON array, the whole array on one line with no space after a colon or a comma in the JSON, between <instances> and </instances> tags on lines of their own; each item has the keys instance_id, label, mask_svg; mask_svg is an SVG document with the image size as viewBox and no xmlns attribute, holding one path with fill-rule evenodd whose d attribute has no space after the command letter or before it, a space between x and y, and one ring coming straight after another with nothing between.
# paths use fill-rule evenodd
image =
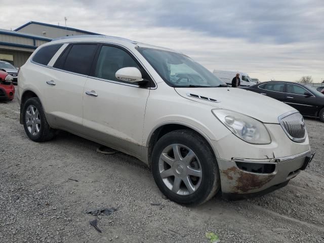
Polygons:
<instances>
[{"instance_id":1,"label":"white SUV's rear door including its dark tinted window","mask_svg":"<svg viewBox=\"0 0 324 243\"><path fill-rule=\"evenodd\" d=\"M70 44L49 69L50 75L44 82L50 124L72 132L82 130L83 89L97 47L97 44Z\"/></svg>"}]
</instances>

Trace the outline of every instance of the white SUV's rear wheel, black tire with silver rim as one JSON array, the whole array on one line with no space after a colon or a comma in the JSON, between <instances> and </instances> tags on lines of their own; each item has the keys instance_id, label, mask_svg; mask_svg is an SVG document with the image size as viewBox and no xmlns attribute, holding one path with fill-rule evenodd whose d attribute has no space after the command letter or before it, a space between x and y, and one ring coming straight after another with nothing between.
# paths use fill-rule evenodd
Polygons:
<instances>
[{"instance_id":1,"label":"white SUV's rear wheel, black tire with silver rim","mask_svg":"<svg viewBox=\"0 0 324 243\"><path fill-rule=\"evenodd\" d=\"M34 142L45 142L54 138L55 130L47 123L45 113L38 98L29 98L23 105L22 120L25 132Z\"/></svg>"}]
</instances>

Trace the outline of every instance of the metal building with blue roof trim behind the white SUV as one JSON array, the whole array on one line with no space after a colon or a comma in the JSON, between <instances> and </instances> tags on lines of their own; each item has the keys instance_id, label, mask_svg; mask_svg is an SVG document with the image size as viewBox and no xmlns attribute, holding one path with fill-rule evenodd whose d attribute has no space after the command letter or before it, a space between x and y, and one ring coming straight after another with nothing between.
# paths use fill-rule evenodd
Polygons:
<instances>
[{"instance_id":1,"label":"metal building with blue roof trim behind the white SUV","mask_svg":"<svg viewBox=\"0 0 324 243\"><path fill-rule=\"evenodd\" d=\"M31 53L53 38L66 35L97 34L65 26L30 21L14 31L0 29L0 60L21 67Z\"/></svg>"}]
</instances>

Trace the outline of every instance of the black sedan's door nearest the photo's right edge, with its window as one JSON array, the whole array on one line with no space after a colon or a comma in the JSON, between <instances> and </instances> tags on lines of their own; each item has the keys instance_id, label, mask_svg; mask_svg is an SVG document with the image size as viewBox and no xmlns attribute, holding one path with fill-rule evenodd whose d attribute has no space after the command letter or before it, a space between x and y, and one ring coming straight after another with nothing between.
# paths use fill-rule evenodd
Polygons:
<instances>
[{"instance_id":1,"label":"black sedan's door nearest the photo's right edge, with its window","mask_svg":"<svg viewBox=\"0 0 324 243\"><path fill-rule=\"evenodd\" d=\"M285 103L297 109L303 115L314 116L317 110L316 97L304 87L297 84L287 84ZM305 92L311 94L306 96Z\"/></svg>"}]
</instances>

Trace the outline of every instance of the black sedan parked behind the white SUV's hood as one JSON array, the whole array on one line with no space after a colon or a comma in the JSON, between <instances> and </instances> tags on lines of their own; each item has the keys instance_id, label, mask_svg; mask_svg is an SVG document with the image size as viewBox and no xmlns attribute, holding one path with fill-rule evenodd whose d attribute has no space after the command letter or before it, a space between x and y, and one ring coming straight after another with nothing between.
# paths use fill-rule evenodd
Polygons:
<instances>
[{"instance_id":1,"label":"black sedan parked behind the white SUV's hood","mask_svg":"<svg viewBox=\"0 0 324 243\"><path fill-rule=\"evenodd\" d=\"M319 117L324 122L324 94L313 87L292 82L269 81L243 89L285 102L302 115Z\"/></svg>"}]
</instances>

